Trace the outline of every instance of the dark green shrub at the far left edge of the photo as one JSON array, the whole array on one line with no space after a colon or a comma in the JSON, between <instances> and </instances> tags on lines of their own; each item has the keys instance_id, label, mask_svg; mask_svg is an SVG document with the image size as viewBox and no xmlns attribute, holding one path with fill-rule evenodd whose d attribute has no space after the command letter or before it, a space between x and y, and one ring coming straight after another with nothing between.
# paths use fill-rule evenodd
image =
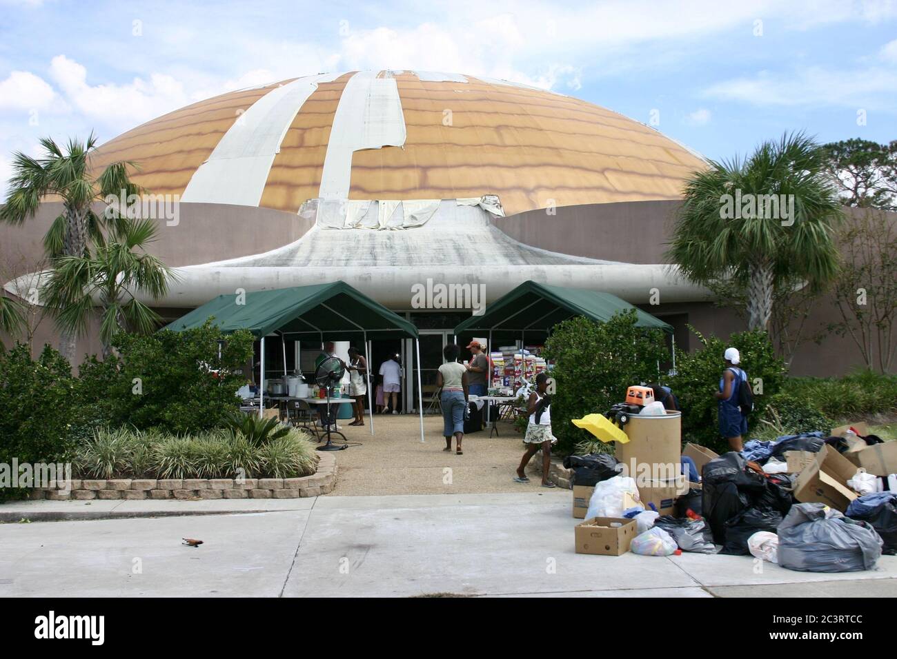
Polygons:
<instances>
[{"instance_id":1,"label":"dark green shrub at the far left edge of the photo","mask_svg":"<svg viewBox=\"0 0 897 659\"><path fill-rule=\"evenodd\" d=\"M37 360L21 343L0 351L0 463L68 462L76 409L71 368L57 351L46 346ZM0 499L23 495L24 490L0 489Z\"/></svg>"}]
</instances>

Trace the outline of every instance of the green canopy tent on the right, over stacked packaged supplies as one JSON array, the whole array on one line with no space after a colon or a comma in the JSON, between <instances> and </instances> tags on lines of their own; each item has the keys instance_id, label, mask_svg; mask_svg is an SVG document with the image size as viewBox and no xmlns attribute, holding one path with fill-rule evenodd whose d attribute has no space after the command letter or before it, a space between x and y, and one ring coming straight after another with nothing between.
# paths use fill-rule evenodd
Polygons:
<instances>
[{"instance_id":1,"label":"green canopy tent on the right, over stacked packaged supplies","mask_svg":"<svg viewBox=\"0 0 897 659\"><path fill-rule=\"evenodd\" d=\"M525 340L527 332L547 335L554 325L573 316L585 316L598 323L605 323L614 314L629 309L635 309L637 327L660 329L673 334L672 325L610 293L549 286L530 280L521 283L492 304L486 305L482 315L470 316L457 325L455 335L476 331L488 332L487 350L492 351L493 330L519 332L521 340ZM522 341L520 356L523 357ZM526 365L526 361L523 363ZM675 369L675 343L673 368Z\"/></svg>"}]
</instances>

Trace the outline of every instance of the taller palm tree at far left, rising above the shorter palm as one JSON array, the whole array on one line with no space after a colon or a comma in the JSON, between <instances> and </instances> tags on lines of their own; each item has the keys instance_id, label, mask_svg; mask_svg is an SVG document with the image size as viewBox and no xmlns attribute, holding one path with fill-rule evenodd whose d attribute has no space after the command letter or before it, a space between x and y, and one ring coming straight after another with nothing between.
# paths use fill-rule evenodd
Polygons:
<instances>
[{"instance_id":1,"label":"taller palm tree at far left, rising above the shorter palm","mask_svg":"<svg viewBox=\"0 0 897 659\"><path fill-rule=\"evenodd\" d=\"M34 216L40 202L48 195L57 195L63 212L53 222L44 237L48 256L85 256L94 238L102 244L103 218L91 210L91 204L108 195L139 195L143 190L128 177L128 167L134 163L113 162L92 177L91 152L97 138L91 133L87 142L69 140L65 152L50 138L40 140L44 155L31 158L22 152L13 154L12 189L0 210L0 221L22 224ZM63 330L59 350L74 360L77 334Z\"/></svg>"}]
</instances>

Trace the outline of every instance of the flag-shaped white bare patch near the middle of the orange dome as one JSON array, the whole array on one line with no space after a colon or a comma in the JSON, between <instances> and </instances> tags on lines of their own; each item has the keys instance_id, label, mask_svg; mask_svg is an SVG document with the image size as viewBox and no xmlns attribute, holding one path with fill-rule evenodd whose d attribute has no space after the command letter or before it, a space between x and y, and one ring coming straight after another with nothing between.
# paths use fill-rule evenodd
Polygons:
<instances>
[{"instance_id":1,"label":"flag-shaped white bare patch near the middle of the orange dome","mask_svg":"<svg viewBox=\"0 0 897 659\"><path fill-rule=\"evenodd\" d=\"M346 82L324 156L318 192L322 199L349 198L353 152L405 145L405 116L396 79L377 74L361 71Z\"/></svg>"}]
</instances>

